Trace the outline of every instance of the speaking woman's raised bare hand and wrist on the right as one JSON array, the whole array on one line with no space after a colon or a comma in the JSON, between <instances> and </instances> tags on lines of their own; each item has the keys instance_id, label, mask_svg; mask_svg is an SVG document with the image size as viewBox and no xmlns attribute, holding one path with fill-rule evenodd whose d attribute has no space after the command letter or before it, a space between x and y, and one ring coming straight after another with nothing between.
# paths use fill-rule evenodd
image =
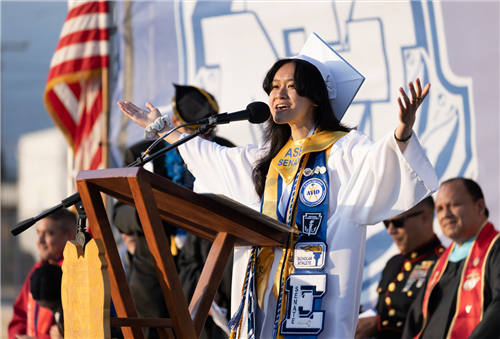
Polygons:
<instances>
[{"instance_id":1,"label":"speaking woman's raised bare hand and wrist on the right","mask_svg":"<svg viewBox=\"0 0 500 339\"><path fill-rule=\"evenodd\" d=\"M403 87L399 88L399 92L401 93L403 99L398 97L399 125L396 127L396 131L394 132L394 137L398 141L398 146L401 152L405 150L406 145L411 138L417 110L424 101L425 97L427 97L427 94L429 94L431 84L425 85L425 88L422 90L420 79L417 78L417 80L415 80L415 85L410 82L408 87L410 88L411 98L408 98L408 95L406 95Z\"/></svg>"}]
</instances>

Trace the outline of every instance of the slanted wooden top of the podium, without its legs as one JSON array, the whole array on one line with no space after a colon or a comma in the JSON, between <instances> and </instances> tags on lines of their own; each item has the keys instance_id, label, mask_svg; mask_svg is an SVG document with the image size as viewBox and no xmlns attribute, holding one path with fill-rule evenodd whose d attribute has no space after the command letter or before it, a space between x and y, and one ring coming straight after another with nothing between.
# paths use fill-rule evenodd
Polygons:
<instances>
[{"instance_id":1,"label":"slanted wooden top of the podium, without its legs","mask_svg":"<svg viewBox=\"0 0 500 339\"><path fill-rule=\"evenodd\" d=\"M236 246L275 246L286 242L288 231L273 229L142 168L82 171L77 180L92 182L102 192L134 206L130 187L124 184L131 177L151 184L163 220L203 239L213 242L222 231L236 236Z\"/></svg>"}]
</instances>

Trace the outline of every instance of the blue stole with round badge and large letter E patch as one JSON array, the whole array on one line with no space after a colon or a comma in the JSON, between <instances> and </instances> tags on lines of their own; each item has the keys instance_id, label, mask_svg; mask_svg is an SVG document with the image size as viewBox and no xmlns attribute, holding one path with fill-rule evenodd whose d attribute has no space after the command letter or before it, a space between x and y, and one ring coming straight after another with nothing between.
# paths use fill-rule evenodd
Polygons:
<instances>
[{"instance_id":1,"label":"blue stole with round badge and large letter E patch","mask_svg":"<svg viewBox=\"0 0 500 339\"><path fill-rule=\"evenodd\" d=\"M280 273L275 331L285 338L297 335L316 338L324 327L325 311L321 310L321 303L327 283L324 267L329 201L326 153L326 150L311 153L302 172L303 180L297 180L300 188L297 188L294 220L301 233L297 240L293 235L289 241L282 258L287 265L279 267L275 277L274 287Z\"/></svg>"}]
</instances>

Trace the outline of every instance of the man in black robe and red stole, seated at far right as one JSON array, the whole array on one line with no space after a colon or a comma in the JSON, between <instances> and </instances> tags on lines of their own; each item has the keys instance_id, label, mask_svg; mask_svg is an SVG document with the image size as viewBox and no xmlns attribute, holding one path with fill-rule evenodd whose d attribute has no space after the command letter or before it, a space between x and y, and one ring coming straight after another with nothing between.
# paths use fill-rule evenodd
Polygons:
<instances>
[{"instance_id":1,"label":"man in black robe and red stole, seated at far right","mask_svg":"<svg viewBox=\"0 0 500 339\"><path fill-rule=\"evenodd\" d=\"M470 179L448 180L435 206L453 243L412 304L403 338L498 338L500 241L481 188Z\"/></svg>"}]
</instances>

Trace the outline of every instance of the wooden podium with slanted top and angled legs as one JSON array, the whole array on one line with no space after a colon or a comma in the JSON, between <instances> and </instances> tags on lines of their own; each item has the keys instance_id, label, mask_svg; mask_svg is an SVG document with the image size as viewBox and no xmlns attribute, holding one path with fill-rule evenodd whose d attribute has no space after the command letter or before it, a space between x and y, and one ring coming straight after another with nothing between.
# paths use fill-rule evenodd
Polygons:
<instances>
[{"instance_id":1,"label":"wooden podium with slanted top and angled legs","mask_svg":"<svg viewBox=\"0 0 500 339\"><path fill-rule=\"evenodd\" d=\"M90 229L102 240L117 318L125 338L144 338L141 327L156 327L162 338L199 338L234 246L283 245L292 228L220 196L196 194L140 167L82 171L78 189ZM118 254L101 193L137 208L170 314L139 318ZM162 220L213 242L188 307Z\"/></svg>"}]
</instances>

